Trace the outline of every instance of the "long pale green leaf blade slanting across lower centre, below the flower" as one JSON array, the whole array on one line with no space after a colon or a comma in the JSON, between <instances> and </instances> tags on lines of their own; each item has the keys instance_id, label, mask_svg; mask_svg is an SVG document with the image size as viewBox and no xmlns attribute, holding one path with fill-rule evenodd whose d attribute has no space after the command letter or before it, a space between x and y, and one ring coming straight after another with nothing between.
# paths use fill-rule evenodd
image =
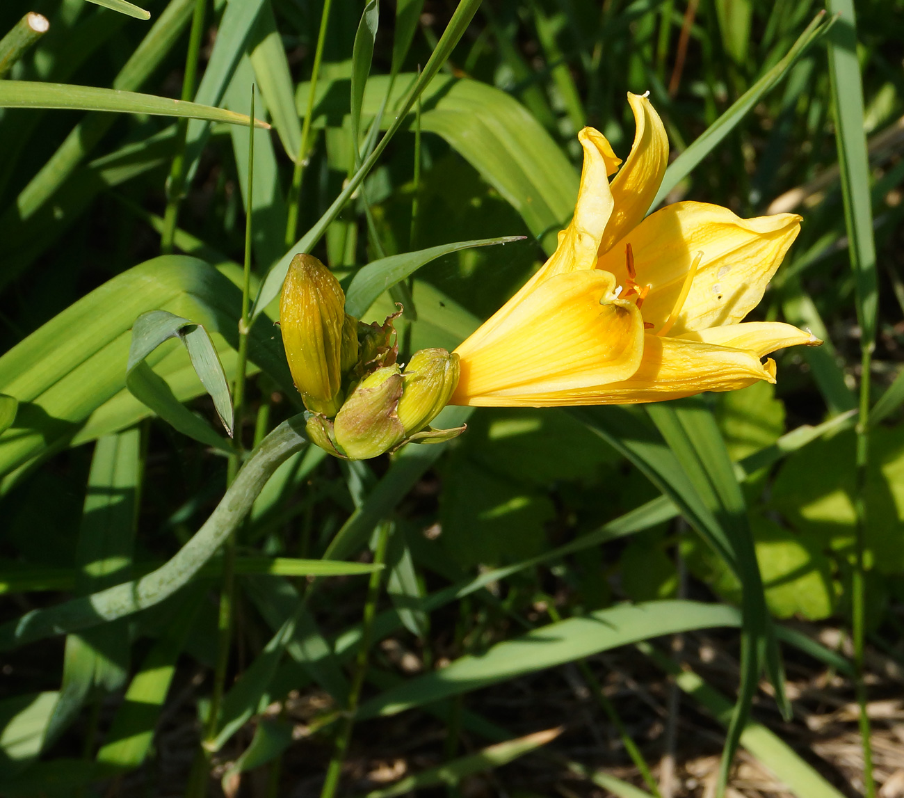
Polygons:
<instances>
[{"instance_id":1,"label":"long pale green leaf blade slanting across lower centre, below the flower","mask_svg":"<svg viewBox=\"0 0 904 798\"><path fill-rule=\"evenodd\" d=\"M722 604L620 604L496 643L479 656L460 657L447 668L411 679L364 702L358 717L396 715L631 642L692 629L736 626L738 622L738 611Z\"/></svg>"}]
</instances>

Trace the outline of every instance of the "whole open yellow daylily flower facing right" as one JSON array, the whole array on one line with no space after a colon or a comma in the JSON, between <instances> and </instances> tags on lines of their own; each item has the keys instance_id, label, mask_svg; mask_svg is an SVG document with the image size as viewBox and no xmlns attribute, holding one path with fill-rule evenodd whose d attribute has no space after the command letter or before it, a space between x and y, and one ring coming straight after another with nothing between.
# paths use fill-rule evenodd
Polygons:
<instances>
[{"instance_id":1,"label":"whole open yellow daylily flower facing right","mask_svg":"<svg viewBox=\"0 0 904 798\"><path fill-rule=\"evenodd\" d=\"M578 203L540 271L457 348L450 404L655 402L774 383L781 347L815 345L780 322L740 323L766 290L801 217L740 219L683 202L645 218L668 164L662 120L628 94L636 134L621 169L607 139L584 149ZM609 183L609 176L616 177Z\"/></svg>"}]
</instances>

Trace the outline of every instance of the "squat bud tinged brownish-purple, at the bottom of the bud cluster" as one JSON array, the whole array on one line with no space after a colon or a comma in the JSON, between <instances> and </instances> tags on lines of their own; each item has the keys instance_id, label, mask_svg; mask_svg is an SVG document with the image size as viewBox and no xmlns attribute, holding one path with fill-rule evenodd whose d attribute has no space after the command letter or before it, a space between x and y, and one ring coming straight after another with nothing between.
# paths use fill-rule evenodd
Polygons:
<instances>
[{"instance_id":1,"label":"squat bud tinged brownish-purple, at the bottom of the bud cluster","mask_svg":"<svg viewBox=\"0 0 904 798\"><path fill-rule=\"evenodd\" d=\"M377 457L398 445L405 428L396 415L402 391L399 366L367 375L336 414L333 432L339 448L352 460Z\"/></svg>"}]
</instances>

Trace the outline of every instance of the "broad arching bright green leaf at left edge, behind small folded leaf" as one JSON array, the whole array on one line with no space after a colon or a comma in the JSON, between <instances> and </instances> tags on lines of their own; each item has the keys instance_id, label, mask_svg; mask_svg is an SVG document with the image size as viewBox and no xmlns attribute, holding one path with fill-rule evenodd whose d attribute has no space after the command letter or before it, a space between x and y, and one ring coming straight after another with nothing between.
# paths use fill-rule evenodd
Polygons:
<instances>
[{"instance_id":1,"label":"broad arching bright green leaf at left edge, behind small folded leaf","mask_svg":"<svg viewBox=\"0 0 904 798\"><path fill-rule=\"evenodd\" d=\"M129 328L142 313L165 309L193 318L217 334L221 351L229 351L239 345L240 308L240 290L219 271L194 258L168 255L119 274L52 318L0 357L0 390L20 403L15 425L0 435L0 473L66 445L92 413L125 390ZM294 395L278 339L260 325L251 330L249 344L250 361ZM165 356L160 347L146 363L155 366ZM123 426L137 420L128 410L136 404L126 403L128 412L119 416Z\"/></svg>"}]
</instances>

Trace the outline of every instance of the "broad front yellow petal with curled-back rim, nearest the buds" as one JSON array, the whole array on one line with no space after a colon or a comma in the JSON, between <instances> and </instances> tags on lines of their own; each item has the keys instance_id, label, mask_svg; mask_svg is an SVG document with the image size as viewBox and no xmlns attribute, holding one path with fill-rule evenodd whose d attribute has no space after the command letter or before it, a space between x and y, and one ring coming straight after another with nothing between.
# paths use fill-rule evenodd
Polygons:
<instances>
[{"instance_id":1,"label":"broad front yellow petal with curled-back rim, nearest the buds","mask_svg":"<svg viewBox=\"0 0 904 798\"><path fill-rule=\"evenodd\" d=\"M614 298L614 287L605 271L543 282L504 324L457 348L461 375L450 404L562 404L563 392L592 393L632 375L643 321L631 302Z\"/></svg>"}]
</instances>

